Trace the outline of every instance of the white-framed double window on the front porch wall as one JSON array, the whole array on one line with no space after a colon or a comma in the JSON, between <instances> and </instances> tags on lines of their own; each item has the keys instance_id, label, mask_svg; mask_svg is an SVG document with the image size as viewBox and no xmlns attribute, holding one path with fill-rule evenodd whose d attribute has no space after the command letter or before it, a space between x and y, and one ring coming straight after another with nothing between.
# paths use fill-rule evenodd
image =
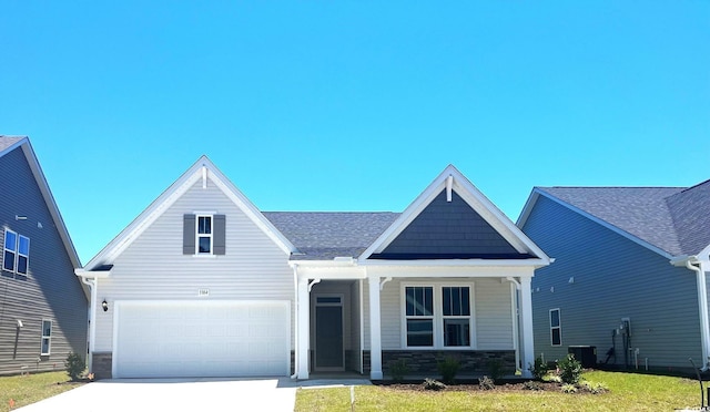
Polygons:
<instances>
[{"instance_id":1,"label":"white-framed double window on the front porch wall","mask_svg":"<svg viewBox=\"0 0 710 412\"><path fill-rule=\"evenodd\" d=\"M405 286L405 347L473 347L471 290L470 285Z\"/></svg>"}]
</instances>

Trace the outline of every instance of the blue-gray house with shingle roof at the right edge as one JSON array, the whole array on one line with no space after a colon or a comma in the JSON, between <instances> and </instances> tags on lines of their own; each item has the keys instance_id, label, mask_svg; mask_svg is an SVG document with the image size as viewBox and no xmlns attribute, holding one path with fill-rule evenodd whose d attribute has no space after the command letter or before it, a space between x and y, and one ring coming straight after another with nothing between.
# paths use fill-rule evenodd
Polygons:
<instances>
[{"instance_id":1,"label":"blue-gray house with shingle roof at the right edge","mask_svg":"<svg viewBox=\"0 0 710 412\"><path fill-rule=\"evenodd\" d=\"M517 225L556 259L532 280L537 356L594 346L609 365L708 368L710 181L536 187Z\"/></svg>"}]
</instances>

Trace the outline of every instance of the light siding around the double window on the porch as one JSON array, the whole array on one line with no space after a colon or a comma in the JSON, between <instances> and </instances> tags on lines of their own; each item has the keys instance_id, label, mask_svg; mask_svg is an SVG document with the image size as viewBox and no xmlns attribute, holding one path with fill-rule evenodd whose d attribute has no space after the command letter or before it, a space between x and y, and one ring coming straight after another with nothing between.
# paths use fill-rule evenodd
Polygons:
<instances>
[{"instance_id":1,"label":"light siding around the double window on the porch","mask_svg":"<svg viewBox=\"0 0 710 412\"><path fill-rule=\"evenodd\" d=\"M403 284L473 284L474 323L477 350L513 350L513 302L510 284L499 278L394 278L381 291L382 349L403 349L402 341L402 285ZM368 282L363 281L365 349L369 349L369 300Z\"/></svg>"}]
</instances>

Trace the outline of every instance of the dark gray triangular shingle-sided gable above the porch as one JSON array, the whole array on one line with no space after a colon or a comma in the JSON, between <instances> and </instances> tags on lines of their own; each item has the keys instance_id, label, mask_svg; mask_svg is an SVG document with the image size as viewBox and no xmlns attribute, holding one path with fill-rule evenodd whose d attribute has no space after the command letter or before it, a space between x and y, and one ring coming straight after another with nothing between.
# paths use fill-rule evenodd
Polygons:
<instances>
[{"instance_id":1,"label":"dark gray triangular shingle-sided gable above the porch","mask_svg":"<svg viewBox=\"0 0 710 412\"><path fill-rule=\"evenodd\" d=\"M442 190L382 255L509 257L519 253L456 192L449 203Z\"/></svg>"}]
</instances>

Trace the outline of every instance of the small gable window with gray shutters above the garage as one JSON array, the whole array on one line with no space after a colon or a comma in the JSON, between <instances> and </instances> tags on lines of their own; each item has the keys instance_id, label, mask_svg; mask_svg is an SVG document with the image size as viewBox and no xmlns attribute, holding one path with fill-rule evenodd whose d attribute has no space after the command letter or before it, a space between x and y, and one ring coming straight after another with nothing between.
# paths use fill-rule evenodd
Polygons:
<instances>
[{"instance_id":1,"label":"small gable window with gray shutters above the garage","mask_svg":"<svg viewBox=\"0 0 710 412\"><path fill-rule=\"evenodd\" d=\"M183 255L224 255L225 226L224 215L184 215Z\"/></svg>"}]
</instances>

